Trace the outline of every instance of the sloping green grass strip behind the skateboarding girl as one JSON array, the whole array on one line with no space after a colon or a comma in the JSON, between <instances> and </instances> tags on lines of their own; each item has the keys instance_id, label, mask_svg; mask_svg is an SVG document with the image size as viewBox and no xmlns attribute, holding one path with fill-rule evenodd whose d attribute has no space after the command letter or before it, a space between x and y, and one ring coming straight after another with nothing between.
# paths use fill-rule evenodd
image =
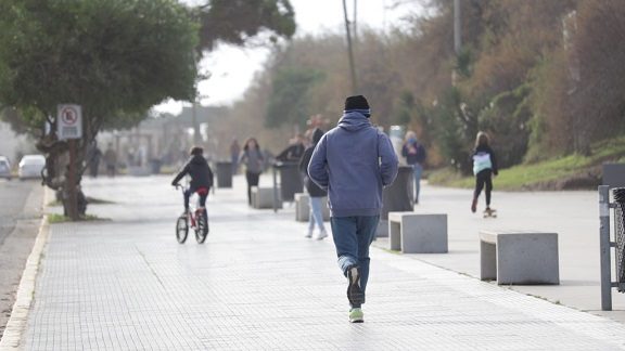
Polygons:
<instances>
[{"instance_id":1,"label":"sloping green grass strip behind the skateboarding girl","mask_svg":"<svg viewBox=\"0 0 625 351\"><path fill-rule=\"evenodd\" d=\"M625 136L594 144L590 156L573 154L502 169L499 171L499 176L494 179L494 183L498 190L512 191L533 187L541 183L557 182L585 173L599 177L597 169L607 161L625 161ZM428 180L436 185L467 188L473 187L475 182L474 177L461 177L452 169L435 171Z\"/></svg>"}]
</instances>

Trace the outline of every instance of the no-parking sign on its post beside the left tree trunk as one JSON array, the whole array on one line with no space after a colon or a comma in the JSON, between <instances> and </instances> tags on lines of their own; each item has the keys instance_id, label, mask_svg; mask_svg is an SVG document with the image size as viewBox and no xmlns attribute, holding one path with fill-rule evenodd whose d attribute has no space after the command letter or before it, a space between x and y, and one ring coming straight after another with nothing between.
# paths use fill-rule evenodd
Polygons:
<instances>
[{"instance_id":1,"label":"no-parking sign on its post beside the left tree trunk","mask_svg":"<svg viewBox=\"0 0 625 351\"><path fill-rule=\"evenodd\" d=\"M66 182L63 197L67 199L67 214L73 221L79 219L78 196L76 194L76 139L82 138L82 109L79 105L59 105L56 116L59 140L67 140L69 165L66 170Z\"/></svg>"}]
</instances>

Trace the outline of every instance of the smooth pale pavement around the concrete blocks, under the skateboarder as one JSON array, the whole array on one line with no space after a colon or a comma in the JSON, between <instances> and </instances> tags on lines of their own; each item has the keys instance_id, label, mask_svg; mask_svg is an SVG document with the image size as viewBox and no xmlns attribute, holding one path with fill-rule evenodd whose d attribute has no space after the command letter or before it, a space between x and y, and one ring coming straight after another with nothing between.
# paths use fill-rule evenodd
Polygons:
<instances>
[{"instance_id":1,"label":"smooth pale pavement around the concrete blocks, under the skateboarder","mask_svg":"<svg viewBox=\"0 0 625 351\"><path fill-rule=\"evenodd\" d=\"M414 211L447 213L449 252L407 257L479 278L477 233L481 230L558 233L560 285L510 288L625 323L625 295L616 289L612 289L613 311L601 311L599 196L596 191L494 192L493 205L499 212L496 219L482 216L484 194L480 198L479 212L471 213L472 197L471 190L422 185L421 203L414 206ZM374 245L386 248L388 242L380 239Z\"/></svg>"}]
</instances>

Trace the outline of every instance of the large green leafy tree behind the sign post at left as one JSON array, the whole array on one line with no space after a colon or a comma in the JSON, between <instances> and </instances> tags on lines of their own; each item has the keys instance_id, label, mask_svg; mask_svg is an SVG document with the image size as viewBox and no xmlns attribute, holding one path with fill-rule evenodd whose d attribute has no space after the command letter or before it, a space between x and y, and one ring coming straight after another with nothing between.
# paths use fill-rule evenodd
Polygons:
<instances>
[{"instance_id":1,"label":"large green leafy tree behind the sign post at left","mask_svg":"<svg viewBox=\"0 0 625 351\"><path fill-rule=\"evenodd\" d=\"M0 101L39 136L37 147L48 156L48 186L71 192L82 173L67 177L75 170L63 157L68 143L55 134L56 105L82 106L81 165L86 147L106 123L138 121L167 98L193 98L197 28L174 0L0 3ZM75 184L64 183L72 178ZM74 204L64 205L75 217Z\"/></svg>"}]
</instances>

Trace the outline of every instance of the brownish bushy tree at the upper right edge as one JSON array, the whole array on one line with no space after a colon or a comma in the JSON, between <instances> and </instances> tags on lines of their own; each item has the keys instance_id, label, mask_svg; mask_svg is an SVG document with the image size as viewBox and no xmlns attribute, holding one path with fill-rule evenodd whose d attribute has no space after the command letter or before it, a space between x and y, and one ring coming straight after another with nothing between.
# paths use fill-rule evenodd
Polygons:
<instances>
[{"instance_id":1,"label":"brownish bushy tree at the upper right edge","mask_svg":"<svg viewBox=\"0 0 625 351\"><path fill-rule=\"evenodd\" d=\"M570 139L573 151L589 154L592 142L625 132L625 8L585 0L567 20L576 29L565 46Z\"/></svg>"}]
</instances>

